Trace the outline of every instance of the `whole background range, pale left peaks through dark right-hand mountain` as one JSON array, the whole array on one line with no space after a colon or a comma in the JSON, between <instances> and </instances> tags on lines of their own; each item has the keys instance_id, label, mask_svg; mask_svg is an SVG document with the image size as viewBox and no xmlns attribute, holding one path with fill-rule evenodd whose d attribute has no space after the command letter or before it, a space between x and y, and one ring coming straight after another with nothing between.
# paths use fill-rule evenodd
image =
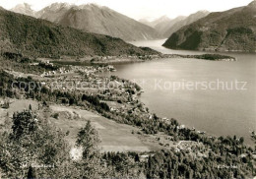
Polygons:
<instances>
[{"instance_id":1,"label":"whole background range, pale left peaks through dark right-hand mountain","mask_svg":"<svg viewBox=\"0 0 256 179\"><path fill-rule=\"evenodd\" d=\"M29 4L12 11L63 27L107 34L127 41L169 37L163 46L175 49L255 51L255 0L246 7L225 12L199 11L188 17L137 22L96 4L54 3L34 12ZM145 25L144 25L145 24Z\"/></svg>"}]
</instances>

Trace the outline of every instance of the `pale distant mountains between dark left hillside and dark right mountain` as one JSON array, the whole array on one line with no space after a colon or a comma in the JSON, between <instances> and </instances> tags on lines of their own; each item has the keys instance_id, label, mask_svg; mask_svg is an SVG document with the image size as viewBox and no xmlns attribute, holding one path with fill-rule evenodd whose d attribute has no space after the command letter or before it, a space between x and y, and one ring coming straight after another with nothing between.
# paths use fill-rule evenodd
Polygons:
<instances>
[{"instance_id":1,"label":"pale distant mountains between dark left hillside and dark right mountain","mask_svg":"<svg viewBox=\"0 0 256 179\"><path fill-rule=\"evenodd\" d=\"M200 11L189 17L180 16L173 20L162 16L152 22L147 20L137 22L96 4L76 6L67 3L53 3L35 12L31 5L25 3L17 5L11 11L47 20L64 27L107 34L127 41L167 38L174 31L209 14L206 11Z\"/></svg>"}]
</instances>

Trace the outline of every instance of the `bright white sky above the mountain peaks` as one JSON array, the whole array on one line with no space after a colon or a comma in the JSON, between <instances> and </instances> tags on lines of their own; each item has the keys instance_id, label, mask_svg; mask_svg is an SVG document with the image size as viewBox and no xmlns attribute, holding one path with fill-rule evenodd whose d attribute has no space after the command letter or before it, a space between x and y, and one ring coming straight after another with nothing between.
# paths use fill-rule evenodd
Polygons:
<instances>
[{"instance_id":1,"label":"bright white sky above the mountain peaks","mask_svg":"<svg viewBox=\"0 0 256 179\"><path fill-rule=\"evenodd\" d=\"M245 6L252 0L0 0L0 6L11 9L17 4L28 3L32 9L40 10L54 2L70 4L96 3L107 6L119 13L139 20L156 19L162 15L170 18L187 16L199 10L211 12L224 11L234 7Z\"/></svg>"}]
</instances>

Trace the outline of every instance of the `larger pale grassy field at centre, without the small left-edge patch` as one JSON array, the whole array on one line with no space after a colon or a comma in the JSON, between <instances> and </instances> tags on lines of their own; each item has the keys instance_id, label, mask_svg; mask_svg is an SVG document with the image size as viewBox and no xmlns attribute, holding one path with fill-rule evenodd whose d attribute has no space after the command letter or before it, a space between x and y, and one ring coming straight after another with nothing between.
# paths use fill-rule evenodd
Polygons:
<instances>
[{"instance_id":1,"label":"larger pale grassy field at centre, without the small left-edge patch","mask_svg":"<svg viewBox=\"0 0 256 179\"><path fill-rule=\"evenodd\" d=\"M103 151L148 151L151 149L132 134L132 131L138 131L134 127L118 124L86 110L59 105L51 105L50 108L60 116L59 119L51 118L51 121L64 132L70 132L67 139L73 146L79 130L85 127L87 121L90 120L98 131L101 140L99 146Z\"/></svg>"}]
</instances>

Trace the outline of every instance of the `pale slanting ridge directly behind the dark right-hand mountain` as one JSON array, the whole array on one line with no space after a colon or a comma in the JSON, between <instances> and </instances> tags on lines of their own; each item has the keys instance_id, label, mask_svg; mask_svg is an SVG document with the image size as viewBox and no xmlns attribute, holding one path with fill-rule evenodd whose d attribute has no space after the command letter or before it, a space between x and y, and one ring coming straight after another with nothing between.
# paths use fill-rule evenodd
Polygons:
<instances>
[{"instance_id":1,"label":"pale slanting ridge directly behind the dark right-hand mountain","mask_svg":"<svg viewBox=\"0 0 256 179\"><path fill-rule=\"evenodd\" d=\"M176 30L179 30L182 27L190 25L191 23L194 23L194 22L206 17L209 14L210 13L208 11L199 11L195 14L190 15L189 17L187 17L187 18L185 18L181 21L177 21L174 24L172 24L171 26L169 26L167 30L166 30L166 28L163 29L164 31L162 31L162 36L169 37Z\"/></svg>"}]
</instances>

